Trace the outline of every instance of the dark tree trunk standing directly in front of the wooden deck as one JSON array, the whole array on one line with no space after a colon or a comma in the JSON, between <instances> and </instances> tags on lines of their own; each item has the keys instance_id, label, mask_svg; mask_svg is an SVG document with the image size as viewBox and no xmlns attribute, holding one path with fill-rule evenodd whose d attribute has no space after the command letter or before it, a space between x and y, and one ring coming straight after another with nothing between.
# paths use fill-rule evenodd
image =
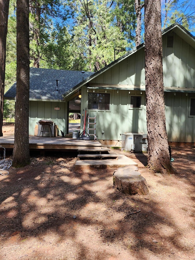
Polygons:
<instances>
[{"instance_id":1,"label":"dark tree trunk standing directly in front of the wooden deck","mask_svg":"<svg viewBox=\"0 0 195 260\"><path fill-rule=\"evenodd\" d=\"M28 136L30 87L29 1L17 0L16 8L17 72L15 139L12 165L22 167L30 163Z\"/></svg>"}]
</instances>

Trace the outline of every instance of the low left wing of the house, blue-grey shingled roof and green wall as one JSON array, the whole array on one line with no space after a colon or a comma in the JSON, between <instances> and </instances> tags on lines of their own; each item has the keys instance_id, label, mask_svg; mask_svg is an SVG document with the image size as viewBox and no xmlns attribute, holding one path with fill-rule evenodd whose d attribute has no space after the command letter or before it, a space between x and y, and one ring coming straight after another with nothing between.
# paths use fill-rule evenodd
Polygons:
<instances>
[{"instance_id":1,"label":"low left wing of the house, blue-grey shingled roof and green wall","mask_svg":"<svg viewBox=\"0 0 195 260\"><path fill-rule=\"evenodd\" d=\"M62 98L92 72L30 68L29 134L35 135L37 122L53 121L64 133L68 131L69 112L80 112L80 105ZM5 93L5 99L15 99L16 83Z\"/></svg>"}]
</instances>

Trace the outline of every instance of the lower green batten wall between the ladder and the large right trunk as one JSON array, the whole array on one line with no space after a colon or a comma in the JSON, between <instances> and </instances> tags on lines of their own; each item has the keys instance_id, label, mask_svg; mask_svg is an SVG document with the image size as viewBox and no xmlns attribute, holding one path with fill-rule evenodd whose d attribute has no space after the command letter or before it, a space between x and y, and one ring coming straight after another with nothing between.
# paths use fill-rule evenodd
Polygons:
<instances>
[{"instance_id":1,"label":"lower green batten wall between the ladder and the large right trunk","mask_svg":"<svg viewBox=\"0 0 195 260\"><path fill-rule=\"evenodd\" d=\"M93 92L89 90L89 92ZM94 90L94 93L105 93L105 90ZM126 132L147 133L146 128L146 106L145 91L124 91L124 90L107 90L110 94L110 109L88 109L88 92L87 87L82 88L83 105L81 111L85 111L90 117L96 116L96 136L100 140L121 140L121 134ZM141 96L141 107L131 108L130 97ZM82 119L82 118L81 118ZM88 126L88 122L86 124ZM82 129L81 120L81 129ZM92 128L93 125L90 125ZM102 134L104 131L104 134ZM87 131L88 132L88 131ZM91 131L90 134L93 134Z\"/></svg>"}]
</instances>

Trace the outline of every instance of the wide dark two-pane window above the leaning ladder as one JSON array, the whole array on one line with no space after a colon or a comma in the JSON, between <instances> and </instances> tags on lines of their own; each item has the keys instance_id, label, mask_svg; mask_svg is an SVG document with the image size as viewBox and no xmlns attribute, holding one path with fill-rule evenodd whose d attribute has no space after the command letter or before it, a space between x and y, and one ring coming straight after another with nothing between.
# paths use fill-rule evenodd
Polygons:
<instances>
[{"instance_id":1,"label":"wide dark two-pane window above the leaning ladder","mask_svg":"<svg viewBox=\"0 0 195 260\"><path fill-rule=\"evenodd\" d=\"M88 109L110 109L110 94L88 93Z\"/></svg>"}]
</instances>

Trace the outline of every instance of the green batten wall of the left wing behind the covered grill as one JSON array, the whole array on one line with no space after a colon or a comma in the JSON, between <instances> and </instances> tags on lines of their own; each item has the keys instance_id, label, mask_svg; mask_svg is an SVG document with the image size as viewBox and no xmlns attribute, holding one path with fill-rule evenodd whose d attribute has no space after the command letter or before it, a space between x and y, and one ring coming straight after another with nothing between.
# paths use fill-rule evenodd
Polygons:
<instances>
[{"instance_id":1,"label":"green batten wall of the left wing behind the covered grill","mask_svg":"<svg viewBox=\"0 0 195 260\"><path fill-rule=\"evenodd\" d=\"M55 107L60 110L55 110ZM30 101L29 102L29 135L34 135L35 126L41 119L53 121L66 134L67 103Z\"/></svg>"}]
</instances>

